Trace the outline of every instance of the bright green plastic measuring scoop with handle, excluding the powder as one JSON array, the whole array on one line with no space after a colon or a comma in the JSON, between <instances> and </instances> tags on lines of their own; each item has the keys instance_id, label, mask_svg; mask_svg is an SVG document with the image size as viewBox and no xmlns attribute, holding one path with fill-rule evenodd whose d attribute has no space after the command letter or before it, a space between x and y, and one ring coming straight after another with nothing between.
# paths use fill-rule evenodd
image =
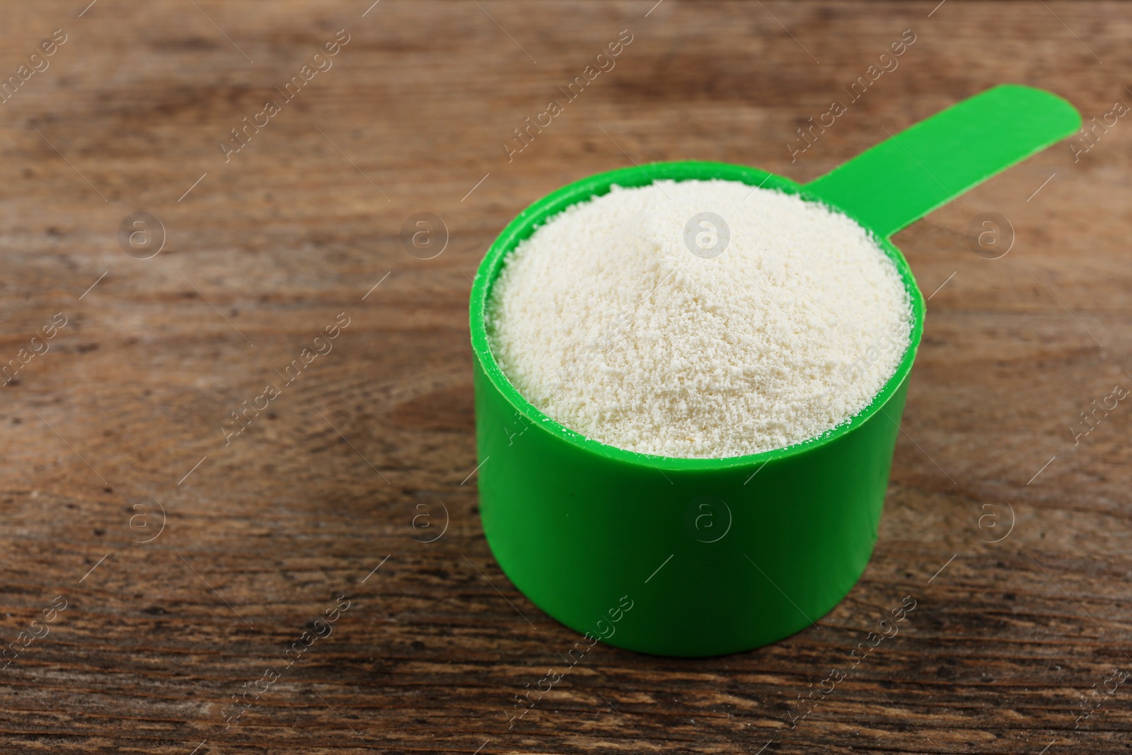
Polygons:
<instances>
[{"instance_id":1,"label":"bright green plastic measuring scoop with handle, excluding the powder","mask_svg":"<svg viewBox=\"0 0 1132 755\"><path fill-rule=\"evenodd\" d=\"M488 249L471 293L480 512L504 573L590 640L663 655L749 650L824 616L873 552L924 332L924 297L889 237L1080 125L1064 100L1004 85L805 186L741 165L657 163L592 175L523 211ZM491 354L484 319L507 254L571 205L614 185L660 179L726 179L796 194L875 233L903 277L914 321L903 361L866 409L786 448L670 458L585 438L512 386Z\"/></svg>"}]
</instances>

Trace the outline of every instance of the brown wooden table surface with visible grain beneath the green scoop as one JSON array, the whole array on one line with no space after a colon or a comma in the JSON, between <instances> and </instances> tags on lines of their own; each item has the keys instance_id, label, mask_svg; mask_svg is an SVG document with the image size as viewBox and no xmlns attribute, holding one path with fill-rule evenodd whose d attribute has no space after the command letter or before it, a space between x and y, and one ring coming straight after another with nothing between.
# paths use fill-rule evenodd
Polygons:
<instances>
[{"instance_id":1,"label":"brown wooden table surface with visible grain beneath the green scoop","mask_svg":"<svg viewBox=\"0 0 1132 755\"><path fill-rule=\"evenodd\" d=\"M1087 120L1132 102L1112 3L653 1L5 9L0 750L1126 752L1132 409L1081 417L1132 388L1123 119L897 238L927 332L876 552L835 610L727 658L600 645L508 729L577 636L478 517L465 312L504 224L648 161L809 180L1002 81ZM398 240L415 213L443 220L439 256ZM983 213L1009 218L1005 257L969 243ZM906 595L899 635L791 727Z\"/></svg>"}]
</instances>

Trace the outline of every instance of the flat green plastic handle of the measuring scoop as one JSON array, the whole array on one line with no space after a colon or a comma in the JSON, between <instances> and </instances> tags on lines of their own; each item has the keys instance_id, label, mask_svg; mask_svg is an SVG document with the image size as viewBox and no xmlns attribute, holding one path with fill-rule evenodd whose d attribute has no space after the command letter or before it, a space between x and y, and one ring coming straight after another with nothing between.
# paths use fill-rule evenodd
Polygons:
<instances>
[{"instance_id":1,"label":"flat green plastic handle of the measuring scoop","mask_svg":"<svg viewBox=\"0 0 1132 755\"><path fill-rule=\"evenodd\" d=\"M889 238L1080 127L1081 114L1065 100L1003 84L892 136L806 189Z\"/></svg>"}]
</instances>

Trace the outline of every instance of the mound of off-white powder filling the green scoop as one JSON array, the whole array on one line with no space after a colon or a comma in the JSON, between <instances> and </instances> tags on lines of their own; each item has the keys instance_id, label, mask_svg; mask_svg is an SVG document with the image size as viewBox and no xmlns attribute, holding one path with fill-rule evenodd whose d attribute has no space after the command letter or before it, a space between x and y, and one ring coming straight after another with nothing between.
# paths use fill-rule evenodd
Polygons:
<instances>
[{"instance_id":1,"label":"mound of off-white powder filling the green scoop","mask_svg":"<svg viewBox=\"0 0 1132 755\"><path fill-rule=\"evenodd\" d=\"M726 229L709 218L686 241L701 213ZM628 451L721 458L849 421L900 364L911 304L842 214L736 181L658 181L535 230L487 318L503 371L554 420Z\"/></svg>"}]
</instances>

